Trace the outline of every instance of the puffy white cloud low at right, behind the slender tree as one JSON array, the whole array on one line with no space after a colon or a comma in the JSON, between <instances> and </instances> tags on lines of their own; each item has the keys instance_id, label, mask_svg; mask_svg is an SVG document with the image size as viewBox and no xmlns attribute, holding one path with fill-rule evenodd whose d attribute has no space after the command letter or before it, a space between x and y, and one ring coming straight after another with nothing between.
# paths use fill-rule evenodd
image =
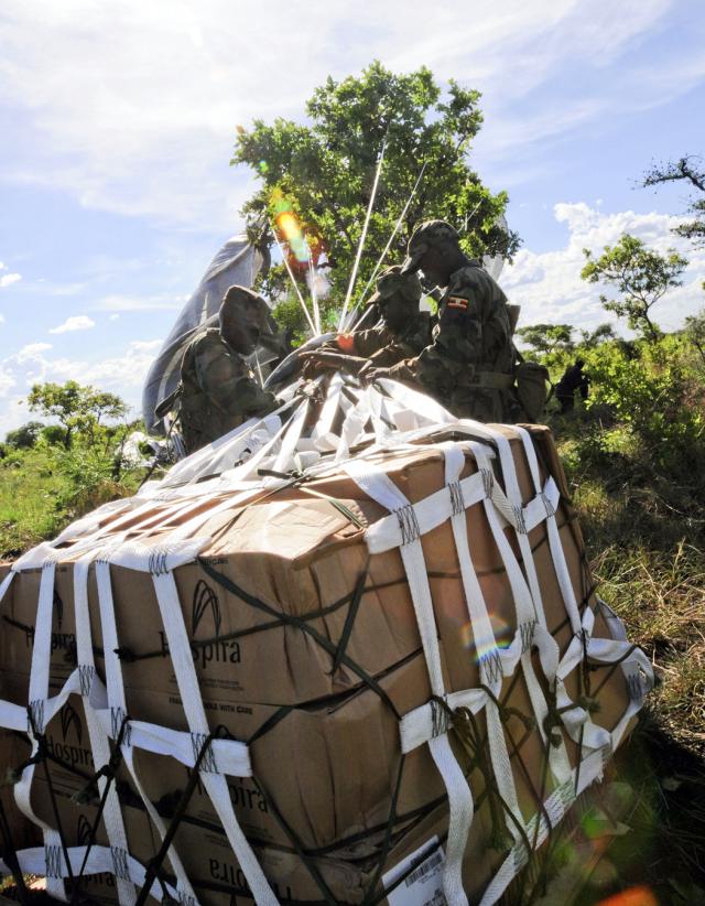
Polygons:
<instances>
[{"instance_id":1,"label":"puffy white cloud low at right, behind the slender tree","mask_svg":"<svg viewBox=\"0 0 705 906\"><path fill-rule=\"evenodd\" d=\"M609 289L581 279L585 265L583 249L601 252L605 246L617 242L623 233L638 236L661 252L676 248L690 260L683 287L666 293L653 309L653 317L660 326L676 330L688 314L705 306L702 290L705 249L694 249L671 233L679 224L679 217L632 211L608 214L601 206L594 208L585 202L557 204L554 214L556 220L567 227L566 245L543 254L521 249L513 266L507 268L500 279L510 301L521 305L519 326L550 322L594 328L605 321L614 322L614 315L608 314L599 302L600 292L609 296ZM623 326L620 330L623 332Z\"/></svg>"}]
</instances>

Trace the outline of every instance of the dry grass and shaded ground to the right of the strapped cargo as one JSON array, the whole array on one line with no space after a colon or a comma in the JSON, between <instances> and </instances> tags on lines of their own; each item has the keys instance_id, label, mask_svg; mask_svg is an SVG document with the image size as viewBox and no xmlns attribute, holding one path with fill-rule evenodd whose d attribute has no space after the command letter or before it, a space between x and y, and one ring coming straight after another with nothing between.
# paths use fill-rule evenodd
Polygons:
<instances>
[{"instance_id":1,"label":"dry grass and shaded ground to the right of the strapped cargo","mask_svg":"<svg viewBox=\"0 0 705 906\"><path fill-rule=\"evenodd\" d=\"M586 431L599 425L585 413L554 427L598 593L658 680L617 754L629 833L615 838L578 902L592 906L633 888L634 906L705 904L703 479L654 474L643 447L619 427L611 451L608 443L607 452L603 445L586 455Z\"/></svg>"}]
</instances>

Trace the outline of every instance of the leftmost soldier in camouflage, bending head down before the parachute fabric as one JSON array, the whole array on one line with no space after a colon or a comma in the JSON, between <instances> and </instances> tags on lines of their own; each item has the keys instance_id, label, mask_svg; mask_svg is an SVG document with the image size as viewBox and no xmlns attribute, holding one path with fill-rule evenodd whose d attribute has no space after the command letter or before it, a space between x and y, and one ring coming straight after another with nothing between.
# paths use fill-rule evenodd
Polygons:
<instances>
[{"instance_id":1,"label":"leftmost soldier in camouflage, bending head down before the parachute fabric","mask_svg":"<svg viewBox=\"0 0 705 906\"><path fill-rule=\"evenodd\" d=\"M219 327L203 331L186 347L178 395L188 453L276 407L245 360L260 335L270 332L268 313L261 296L245 287L230 287L223 296Z\"/></svg>"}]
</instances>

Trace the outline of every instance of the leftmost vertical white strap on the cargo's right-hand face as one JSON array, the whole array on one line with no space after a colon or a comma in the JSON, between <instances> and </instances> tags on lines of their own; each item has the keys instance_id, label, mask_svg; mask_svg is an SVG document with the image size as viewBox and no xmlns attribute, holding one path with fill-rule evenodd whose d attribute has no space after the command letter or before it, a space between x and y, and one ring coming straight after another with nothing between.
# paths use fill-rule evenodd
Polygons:
<instances>
[{"instance_id":1,"label":"leftmost vertical white strap on the cargo's right-hand face","mask_svg":"<svg viewBox=\"0 0 705 906\"><path fill-rule=\"evenodd\" d=\"M345 465L345 470L369 497L395 514L401 531L399 550L406 571L431 691L434 695L443 698L445 683L441 650L414 506L387 475L373 471L368 464L351 461ZM370 532L373 537L371 529L368 529L366 537ZM463 855L473 822L474 803L469 785L451 748L447 731L446 724L441 735L435 735L429 741L429 748L448 794L449 820L443 891L452 906L464 906L468 900L463 889Z\"/></svg>"}]
</instances>

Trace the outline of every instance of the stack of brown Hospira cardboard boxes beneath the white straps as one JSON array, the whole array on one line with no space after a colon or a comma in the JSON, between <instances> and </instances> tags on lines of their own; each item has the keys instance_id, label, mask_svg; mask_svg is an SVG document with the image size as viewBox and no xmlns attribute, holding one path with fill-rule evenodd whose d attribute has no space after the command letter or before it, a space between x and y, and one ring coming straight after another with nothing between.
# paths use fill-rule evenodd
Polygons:
<instances>
[{"instance_id":1,"label":"stack of brown Hospira cardboard boxes beneath the white straps","mask_svg":"<svg viewBox=\"0 0 705 906\"><path fill-rule=\"evenodd\" d=\"M534 436L544 475L551 473L565 495L565 477L550 433L538 431ZM527 503L534 496L533 484L523 446L517 439L511 443ZM404 450L380 457L378 465L412 501L444 485L444 462L437 450ZM475 471L476 464L468 456L464 474ZM203 508L208 505L204 499ZM160 507L155 505L151 526L135 529L134 537L145 544L167 540L171 527L178 525L178 518L160 521ZM400 553L392 550L368 557L365 525L382 515L381 507L347 475L333 474L214 516L198 532L212 537L204 560L175 572L210 726L224 725L243 742L254 737L251 758L256 778L229 778L230 798L265 873L284 899L316 902L322 894L310 867L291 851L291 838L278 815L307 850L313 860L310 865L316 866L329 891L335 892L334 898L361 902L376 876L376 856L390 813L400 762L398 715L424 704L431 695ZM575 595L581 606L595 607L583 542L573 517L563 497L557 521ZM467 528L474 565L495 628L500 640L508 643L516 632L514 603L481 504L468 508ZM513 532L507 530L507 537L519 556ZM545 527L533 529L529 540L547 625L563 652L572 629L565 619ZM446 688L476 688L478 651L468 623L451 525L446 521L423 536L422 547ZM66 557L70 559L70 549ZM204 563L240 591L232 593L219 584ZM18 703L26 702L29 689L39 576L39 571L17 576L3 606L10 622L0 636L0 646L3 662L12 671L7 694ZM152 578L112 567L111 579L129 713L135 720L186 730ZM58 567L52 693L61 688L75 662L72 581L70 564ZM105 658L117 655L100 647L93 569L89 608L96 664L102 673ZM594 635L609 635L599 612ZM345 657L339 657L341 652ZM538 658L535 664L541 676ZM397 714L370 688L369 680L384 690ZM579 680L574 671L566 682L574 699L581 690ZM506 737L520 807L529 819L536 812L538 800L552 791L543 767L544 749L538 730L521 720L521 715L533 714L521 676L505 681L502 698L514 710L506 724ZM594 720L611 729L628 703L619 669L612 671L598 698L600 710ZM57 785L67 795L72 784L75 787L77 783L77 768L88 773L95 769L82 721L83 704L72 699L47 726L47 744L70 766L55 766ZM270 721L272 729L257 736L257 731ZM478 729L485 734L482 714L478 715ZM488 849L491 821L482 758L475 753L470 761L470 753L454 732L449 738L464 768L470 772L477 802L466 851L466 884L468 892L480 891L501 856ZM579 747L567 738L566 744L575 765ZM144 752L138 753L137 762L152 801L164 808L164 803L173 803L188 779L185 766ZM124 783L129 791L129 781ZM404 762L392 828L393 848L384 873L433 835L443 839L444 821L447 823L447 803L443 799L441 777L427 746L421 746ZM135 845L141 846L141 842L138 835ZM130 840L131 849L132 844ZM198 786L178 829L176 846L194 884L203 888L204 902L219 904L224 896L236 897L232 902L247 899L239 867L213 806Z\"/></svg>"}]
</instances>

